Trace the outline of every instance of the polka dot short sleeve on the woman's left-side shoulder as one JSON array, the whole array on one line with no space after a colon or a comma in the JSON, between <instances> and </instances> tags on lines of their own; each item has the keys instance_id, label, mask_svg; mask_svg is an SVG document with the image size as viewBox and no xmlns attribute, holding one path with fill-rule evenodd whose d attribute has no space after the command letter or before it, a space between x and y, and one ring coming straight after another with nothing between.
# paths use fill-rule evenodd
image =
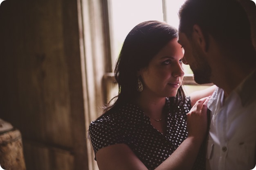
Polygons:
<instances>
[{"instance_id":1,"label":"polka dot short sleeve on the woman's left-side shoulder","mask_svg":"<svg viewBox=\"0 0 256 170\"><path fill-rule=\"evenodd\" d=\"M96 120L91 122L89 126L89 135L94 154L96 154L99 149L106 146L126 143L124 140L124 135L117 130L115 123L111 122L110 120Z\"/></svg>"}]
</instances>

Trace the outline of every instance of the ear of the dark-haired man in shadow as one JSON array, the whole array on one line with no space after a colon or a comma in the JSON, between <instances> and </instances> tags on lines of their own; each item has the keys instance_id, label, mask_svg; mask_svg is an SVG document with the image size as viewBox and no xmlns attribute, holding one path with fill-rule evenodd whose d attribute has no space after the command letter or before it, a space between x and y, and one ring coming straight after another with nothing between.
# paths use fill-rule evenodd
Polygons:
<instances>
[{"instance_id":1,"label":"ear of the dark-haired man in shadow","mask_svg":"<svg viewBox=\"0 0 256 170\"><path fill-rule=\"evenodd\" d=\"M198 45L202 48L202 50L204 50L204 52L207 52L207 38L204 36L202 29L198 24L195 24L193 26L192 37L195 40L195 42L197 42Z\"/></svg>"}]
</instances>

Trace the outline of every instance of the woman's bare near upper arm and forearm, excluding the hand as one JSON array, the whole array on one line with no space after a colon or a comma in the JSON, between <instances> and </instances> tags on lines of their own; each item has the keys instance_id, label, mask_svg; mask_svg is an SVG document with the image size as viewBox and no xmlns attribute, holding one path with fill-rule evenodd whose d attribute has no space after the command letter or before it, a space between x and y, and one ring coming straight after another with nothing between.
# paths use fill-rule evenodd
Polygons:
<instances>
[{"instance_id":1,"label":"woman's bare near upper arm and forearm, excluding the hand","mask_svg":"<svg viewBox=\"0 0 256 170\"><path fill-rule=\"evenodd\" d=\"M188 137L155 170L189 170L197 157L200 141ZM96 153L99 170L148 170L126 144L104 147Z\"/></svg>"}]
</instances>

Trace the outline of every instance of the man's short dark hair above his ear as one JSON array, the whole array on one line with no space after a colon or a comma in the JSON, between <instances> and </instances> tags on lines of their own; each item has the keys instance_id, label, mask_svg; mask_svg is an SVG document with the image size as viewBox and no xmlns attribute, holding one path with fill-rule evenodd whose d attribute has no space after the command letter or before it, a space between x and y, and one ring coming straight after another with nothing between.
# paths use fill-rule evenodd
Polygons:
<instances>
[{"instance_id":1,"label":"man's short dark hair above his ear","mask_svg":"<svg viewBox=\"0 0 256 170\"><path fill-rule=\"evenodd\" d=\"M186 0L179 11L179 31L191 38L193 25L220 44L251 39L247 14L237 0Z\"/></svg>"}]
</instances>

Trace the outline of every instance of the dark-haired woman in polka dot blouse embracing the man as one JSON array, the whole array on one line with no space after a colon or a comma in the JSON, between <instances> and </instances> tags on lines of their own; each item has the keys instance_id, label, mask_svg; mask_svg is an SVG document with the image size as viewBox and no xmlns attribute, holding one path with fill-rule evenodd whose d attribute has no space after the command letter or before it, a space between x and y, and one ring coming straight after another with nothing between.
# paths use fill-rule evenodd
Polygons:
<instances>
[{"instance_id":1,"label":"dark-haired woman in polka dot blouse embracing the man","mask_svg":"<svg viewBox=\"0 0 256 170\"><path fill-rule=\"evenodd\" d=\"M177 29L158 21L142 22L127 35L115 67L117 100L89 127L100 170L193 167L206 134L207 98L189 110L215 87L185 97L177 37Z\"/></svg>"}]
</instances>

